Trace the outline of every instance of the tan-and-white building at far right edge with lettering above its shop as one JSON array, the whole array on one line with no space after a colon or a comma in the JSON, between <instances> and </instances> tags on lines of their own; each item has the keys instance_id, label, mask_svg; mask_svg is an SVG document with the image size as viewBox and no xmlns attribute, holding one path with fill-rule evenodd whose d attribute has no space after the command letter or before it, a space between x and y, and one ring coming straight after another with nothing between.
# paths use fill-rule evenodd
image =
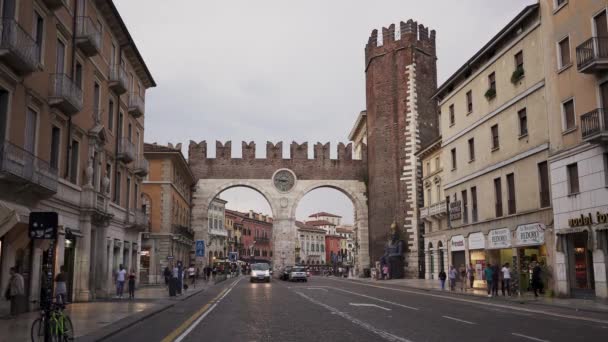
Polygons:
<instances>
[{"instance_id":1,"label":"tan-and-white building at far right edge with lettering above its shop","mask_svg":"<svg viewBox=\"0 0 608 342\"><path fill-rule=\"evenodd\" d=\"M560 295L608 297L607 7L540 1Z\"/></svg>"}]
</instances>

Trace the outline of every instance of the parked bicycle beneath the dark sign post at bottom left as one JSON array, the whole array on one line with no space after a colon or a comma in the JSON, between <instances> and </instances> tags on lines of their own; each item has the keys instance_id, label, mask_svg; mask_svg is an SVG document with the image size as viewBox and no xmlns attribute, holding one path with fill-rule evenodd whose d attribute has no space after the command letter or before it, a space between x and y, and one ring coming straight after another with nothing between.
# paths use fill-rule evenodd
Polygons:
<instances>
[{"instance_id":1,"label":"parked bicycle beneath the dark sign post at bottom left","mask_svg":"<svg viewBox=\"0 0 608 342\"><path fill-rule=\"evenodd\" d=\"M40 311L40 317L32 323L32 342L45 341L45 325L48 329L46 333L48 333L49 341L74 341L74 325L70 316L63 311L64 309L65 305L63 304L51 303L48 316L44 309ZM48 324L45 324L47 323L47 317L49 321Z\"/></svg>"}]
</instances>

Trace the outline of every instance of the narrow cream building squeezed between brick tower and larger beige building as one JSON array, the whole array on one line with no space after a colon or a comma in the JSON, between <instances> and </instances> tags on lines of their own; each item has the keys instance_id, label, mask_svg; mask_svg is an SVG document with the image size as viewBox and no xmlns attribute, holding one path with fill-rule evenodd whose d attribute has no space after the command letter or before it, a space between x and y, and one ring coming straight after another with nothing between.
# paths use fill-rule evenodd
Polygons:
<instances>
[{"instance_id":1,"label":"narrow cream building squeezed between brick tower and larger beige building","mask_svg":"<svg viewBox=\"0 0 608 342\"><path fill-rule=\"evenodd\" d=\"M422 193L418 217L423 232L419 240L424 251L424 278L439 279L439 272L448 268L447 201L443 194L443 165L441 137L416 153L422 164Z\"/></svg>"}]
</instances>

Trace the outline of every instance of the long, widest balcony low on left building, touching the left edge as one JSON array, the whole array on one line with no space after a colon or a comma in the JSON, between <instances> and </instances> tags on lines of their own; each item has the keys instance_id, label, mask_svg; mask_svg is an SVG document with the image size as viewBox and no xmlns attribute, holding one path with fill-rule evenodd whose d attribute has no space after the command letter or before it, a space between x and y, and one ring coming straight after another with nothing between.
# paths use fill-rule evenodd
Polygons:
<instances>
[{"instance_id":1,"label":"long, widest balcony low on left building, touching the left edge","mask_svg":"<svg viewBox=\"0 0 608 342\"><path fill-rule=\"evenodd\" d=\"M57 192L57 169L8 141L0 144L0 181L27 185L41 195Z\"/></svg>"}]
</instances>

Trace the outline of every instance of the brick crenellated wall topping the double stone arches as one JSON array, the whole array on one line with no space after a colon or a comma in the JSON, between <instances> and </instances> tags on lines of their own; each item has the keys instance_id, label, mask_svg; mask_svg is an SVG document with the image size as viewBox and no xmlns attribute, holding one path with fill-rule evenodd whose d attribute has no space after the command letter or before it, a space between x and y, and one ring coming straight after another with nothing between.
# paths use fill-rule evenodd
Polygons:
<instances>
[{"instance_id":1,"label":"brick crenellated wall topping the double stone arches","mask_svg":"<svg viewBox=\"0 0 608 342\"><path fill-rule=\"evenodd\" d=\"M274 172L288 168L298 179L367 179L367 153L352 158L352 144L337 146L338 158L330 158L330 144L316 143L314 156L308 157L308 143L292 142L290 158L283 158L283 143L266 143L266 158L256 158L254 142L242 142L242 158L232 158L232 142L215 143L216 157L207 156L207 142L190 141L188 162L196 179L270 179ZM366 149L363 149L364 151Z\"/></svg>"}]
</instances>

